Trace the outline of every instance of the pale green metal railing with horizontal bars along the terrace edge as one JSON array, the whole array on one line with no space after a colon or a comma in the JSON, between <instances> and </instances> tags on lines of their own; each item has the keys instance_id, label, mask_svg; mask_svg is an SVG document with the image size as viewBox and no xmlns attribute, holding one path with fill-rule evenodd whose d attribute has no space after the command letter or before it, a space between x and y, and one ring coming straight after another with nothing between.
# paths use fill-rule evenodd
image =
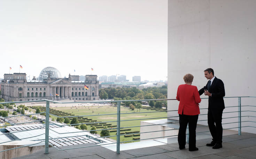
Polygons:
<instances>
[{"instance_id":1,"label":"pale green metal railing with horizontal bars along the terrace edge","mask_svg":"<svg viewBox=\"0 0 256 159\"><path fill-rule=\"evenodd\" d=\"M236 129L238 128L238 134L241 135L241 128L242 127L254 127L255 126L242 126L242 122L254 122L254 121L242 121L241 118L242 117L256 117L256 115L246 115L246 116L242 116L242 112L256 112L256 111L242 111L241 110L241 107L256 107L256 106L253 106L253 105L241 105L241 98L256 98L256 97L251 97L251 96L244 96L244 97L224 97L224 98L238 98L238 106L226 106L226 108L228 107L238 107L238 111L232 111L232 112L223 112L223 113L238 113L238 116L234 116L234 117L226 117L226 118L238 118L238 121L237 122L230 122L230 123L223 123L223 124L233 124L233 123L238 123L238 126L237 127L231 127L231 128L228 128L228 129ZM201 99L208 99L208 98L201 98ZM126 126L126 127L121 127L120 123L121 122L126 122L126 121L137 121L137 120L152 120L152 119L163 119L163 118L173 118L173 117L179 117L178 115L177 116L166 116L166 117L153 117L153 118L140 118L140 119L130 119L130 120L121 120L121 115L123 114L143 114L143 113L159 113L159 112L173 112L173 111L177 111L177 110L172 110L172 111L155 111L155 112L134 112L134 113L121 113L121 103L123 102L133 102L133 101L136 101L136 102L140 102L140 101L162 101L162 100L176 100L176 99L145 99L145 100L103 100L103 101L79 101L79 102L60 102L60 101L53 101L53 100L48 100L48 99L42 99L42 100L34 100L34 101L12 101L12 102L2 102L0 104L10 104L10 103L37 103L37 102L46 102L46 112L40 112L40 113L34 113L34 114L29 114L29 115L36 115L36 114L41 114L41 113L46 113L46 119L45 119L45 133L43 134L40 134L40 135L44 135L45 134L45 139L44 141L40 141L38 143L34 143L34 144L30 144L30 145L26 145L26 146L31 146L31 145L35 145L35 144L39 144L41 142L45 142L45 153L49 153L49 145L51 145L52 147L54 147L55 149L57 150L70 150L70 149L77 149L77 148L86 148L86 147L95 147L95 146L102 146L102 145L109 145L109 144L116 144L116 153L119 154L120 153L120 143L125 143L125 142L133 142L133 141L141 141L141 140L149 140L149 139L158 139L158 138L166 138L166 137L172 137L172 136L177 136L177 135L170 135L170 136L161 136L161 137L156 137L156 138L147 138L147 139L138 139L138 140L130 140L130 141L120 141L120 136L123 136L125 134L120 134L120 130L121 129L124 129L124 128L133 128L133 127L143 127L143 126L155 126L155 125L164 125L164 124L169 124L169 123L161 123L161 124L151 124L151 125L139 125L139 126ZM52 102L53 104L80 104L80 103L116 103L117 104L117 113L116 114L98 114L98 115L75 115L75 116L57 116L57 115L54 115L54 114L51 114L49 113L49 109L50 109L50 102ZM203 110L203 109L208 109L208 108L201 108L200 110ZM28 114L26 114L28 115ZM15 116L7 116L7 117L18 117L18 116L26 116L26 115L15 115ZM117 126L116 128L109 128L109 129L99 129L99 130L93 130L93 131L102 131L102 130L117 130L116 132L116 135L110 135L110 136L103 136L103 137L96 137L96 138L90 138L90 139L99 139L99 138L109 138L109 137L114 137L116 136L117 140L116 142L111 142L111 143L101 143L101 144L96 144L96 145L90 145L90 146L84 146L84 147L76 147L76 148L67 148L67 149L58 149L57 147L55 147L53 144L49 143L49 138L53 141L56 141L56 142L67 142L67 141L57 141L56 139L60 139L60 138L53 138L49 135L49 130L55 132L55 133L58 133L58 134L70 134L70 133L79 133L79 132L89 132L91 130L86 130L86 131L74 131L74 132L65 132L65 133L60 133L60 132L57 132L53 129L50 129L49 128L49 124L50 123L53 123L51 121L49 121L49 115L52 115L52 116L55 116L55 117L59 117L59 118L65 118L65 117L88 117L88 116L102 116L102 115L116 115L116 120L115 121L104 121L104 122L86 122L86 123L79 123L79 124L67 124L67 125L81 125L81 124L95 124L95 123L110 123L110 122L116 122L117 123ZM207 114L200 114L200 115L207 115ZM7 117L2 117L2 118L7 118ZM225 118L223 118L225 119ZM42 121L42 120L39 120L39 121ZM199 120L198 122L201 122L201 121L207 121L207 120ZM32 122L24 122L24 123L18 123L18 124L26 124L26 123L33 123L33 122L38 122L38 121L32 121ZM179 123L179 122L173 122L172 124L175 124L175 123ZM256 123L256 122L254 122ZM17 123L16 124L8 124L8 125L18 125ZM54 123L55 125L58 125L58 126L65 126L65 125L60 125L60 124L57 124L57 123ZM4 126L8 126L8 125L4 125ZM202 126L197 126L197 127L204 127L204 126L207 126L207 125L202 125ZM40 128L37 128L37 129L40 129ZM36 129L32 129L32 130L36 130ZM178 130L178 129L171 129L171 130ZM223 129L225 130L225 129ZM22 131L15 131L15 132L23 132L23 131L30 131L30 130L22 130ZM162 131L170 131L170 129L168 130L160 130L160 131L149 131L149 132L136 132L136 133L129 133L129 135L133 135L133 134L143 134L143 133L152 133L152 132L162 132ZM15 132L9 132L9 133L5 133L5 134L12 134L12 133L15 133ZM209 132L209 131L204 131L204 132ZM197 133L203 133L203 132L197 132ZM0 135L5 135L5 134L0 134ZM36 135L36 136L40 136L40 135ZM188 135L187 134L187 138L188 138ZM23 139L29 139L29 138L33 138L33 137L36 137L36 136L31 136L31 137L28 137L28 138L23 138ZM69 137L76 137L77 135L73 135L73 136L65 136L65 138L69 138ZM86 135L81 135L81 136L86 136ZM63 137L62 137L63 138ZM23 139L16 139L16 140L23 140ZM16 140L11 140L11 141L16 141ZM71 140L71 141L80 141L80 140L85 140L85 139L78 139L78 140ZM5 142L1 142L0 144L2 143L7 143L7 142L11 142L11 141L5 141ZM188 140L187 140L188 141ZM26 146L22 146L22 147L26 147ZM4 152L4 151L8 151L8 150L13 150L13 149L18 149L18 148L22 148L22 147L17 147L17 148L12 148L12 149L7 149L7 150L2 150L0 152Z\"/></svg>"}]
</instances>

